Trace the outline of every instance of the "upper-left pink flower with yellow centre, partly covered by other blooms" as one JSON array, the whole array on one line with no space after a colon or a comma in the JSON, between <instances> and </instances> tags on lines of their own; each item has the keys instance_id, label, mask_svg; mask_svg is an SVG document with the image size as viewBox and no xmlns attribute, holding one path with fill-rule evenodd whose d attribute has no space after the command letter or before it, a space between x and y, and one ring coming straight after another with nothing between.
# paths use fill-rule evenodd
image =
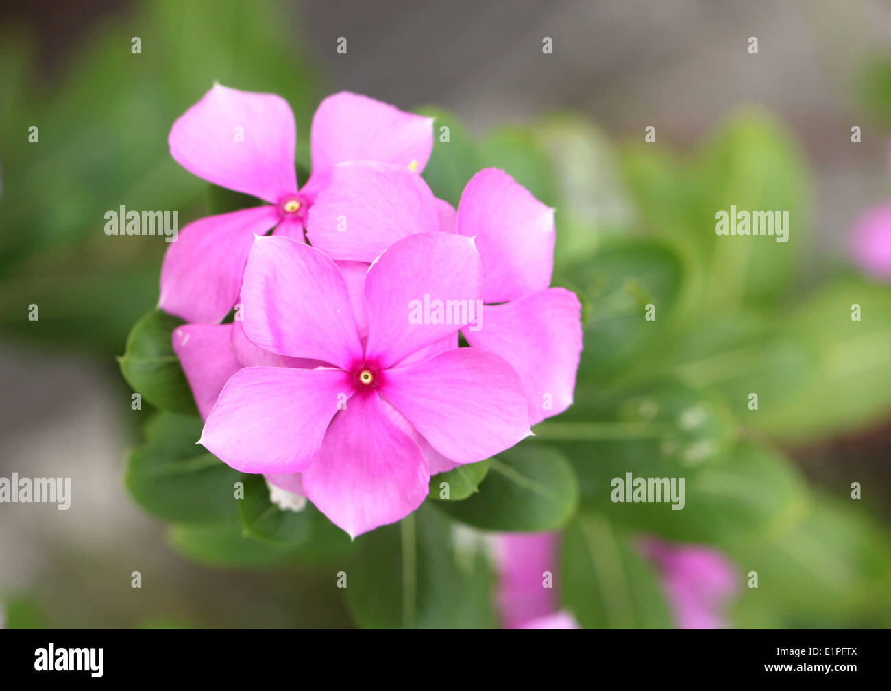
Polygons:
<instances>
[{"instance_id":1,"label":"upper-left pink flower with yellow centre, partly covered by other blooms","mask_svg":"<svg viewBox=\"0 0 891 691\"><path fill-rule=\"evenodd\" d=\"M233 308L254 235L273 227L303 240L307 210L338 163L372 159L422 170L433 149L430 118L356 93L335 93L315 111L313 173L298 189L297 129L290 106L273 93L221 85L177 119L170 155L210 183L268 205L208 216L184 227L161 269L159 307L186 321L216 322Z\"/></svg>"}]
</instances>

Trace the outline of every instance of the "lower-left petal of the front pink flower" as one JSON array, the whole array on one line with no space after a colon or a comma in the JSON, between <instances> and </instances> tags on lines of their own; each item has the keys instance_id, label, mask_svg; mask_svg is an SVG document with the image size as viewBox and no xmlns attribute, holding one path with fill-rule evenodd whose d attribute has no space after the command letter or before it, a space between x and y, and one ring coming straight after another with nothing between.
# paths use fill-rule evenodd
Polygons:
<instances>
[{"instance_id":1,"label":"lower-left petal of the front pink flower","mask_svg":"<svg viewBox=\"0 0 891 691\"><path fill-rule=\"evenodd\" d=\"M297 473L354 391L343 370L245 368L226 383L200 443L244 473Z\"/></svg>"}]
</instances>

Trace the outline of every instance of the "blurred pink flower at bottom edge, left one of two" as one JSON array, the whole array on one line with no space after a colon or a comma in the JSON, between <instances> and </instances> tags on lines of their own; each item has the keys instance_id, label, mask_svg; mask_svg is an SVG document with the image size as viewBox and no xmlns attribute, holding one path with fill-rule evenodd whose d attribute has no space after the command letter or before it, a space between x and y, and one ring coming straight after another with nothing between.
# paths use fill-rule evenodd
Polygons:
<instances>
[{"instance_id":1,"label":"blurred pink flower at bottom edge, left one of two","mask_svg":"<svg viewBox=\"0 0 891 691\"><path fill-rule=\"evenodd\" d=\"M495 538L498 566L496 599L505 629L578 629L571 614L560 611L557 532L516 532ZM550 574L550 576L549 576Z\"/></svg>"}]
</instances>

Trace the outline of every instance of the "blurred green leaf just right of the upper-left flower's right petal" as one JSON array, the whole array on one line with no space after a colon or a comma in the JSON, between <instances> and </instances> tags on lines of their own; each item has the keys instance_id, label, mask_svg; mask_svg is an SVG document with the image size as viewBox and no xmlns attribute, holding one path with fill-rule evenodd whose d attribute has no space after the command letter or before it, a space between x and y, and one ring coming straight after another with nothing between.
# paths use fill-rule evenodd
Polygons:
<instances>
[{"instance_id":1,"label":"blurred green leaf just right of the upper-left flower's right petal","mask_svg":"<svg viewBox=\"0 0 891 691\"><path fill-rule=\"evenodd\" d=\"M458 207L464 186L479 170L476 144L461 121L446 110L426 107L418 112L436 118L433 123L433 153L422 176L437 198ZM447 130L443 130L443 127ZM448 141L443 141L446 135Z\"/></svg>"}]
</instances>

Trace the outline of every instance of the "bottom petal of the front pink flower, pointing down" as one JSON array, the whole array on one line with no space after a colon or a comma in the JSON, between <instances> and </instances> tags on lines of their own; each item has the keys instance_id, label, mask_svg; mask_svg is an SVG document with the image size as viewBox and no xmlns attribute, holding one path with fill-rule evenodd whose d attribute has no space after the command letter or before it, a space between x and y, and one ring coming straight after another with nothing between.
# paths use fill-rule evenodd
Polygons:
<instances>
[{"instance_id":1,"label":"bottom petal of the front pink flower, pointing down","mask_svg":"<svg viewBox=\"0 0 891 691\"><path fill-rule=\"evenodd\" d=\"M303 473L307 496L351 537L410 514L427 497L421 449L396 427L376 394L347 402Z\"/></svg>"}]
</instances>

